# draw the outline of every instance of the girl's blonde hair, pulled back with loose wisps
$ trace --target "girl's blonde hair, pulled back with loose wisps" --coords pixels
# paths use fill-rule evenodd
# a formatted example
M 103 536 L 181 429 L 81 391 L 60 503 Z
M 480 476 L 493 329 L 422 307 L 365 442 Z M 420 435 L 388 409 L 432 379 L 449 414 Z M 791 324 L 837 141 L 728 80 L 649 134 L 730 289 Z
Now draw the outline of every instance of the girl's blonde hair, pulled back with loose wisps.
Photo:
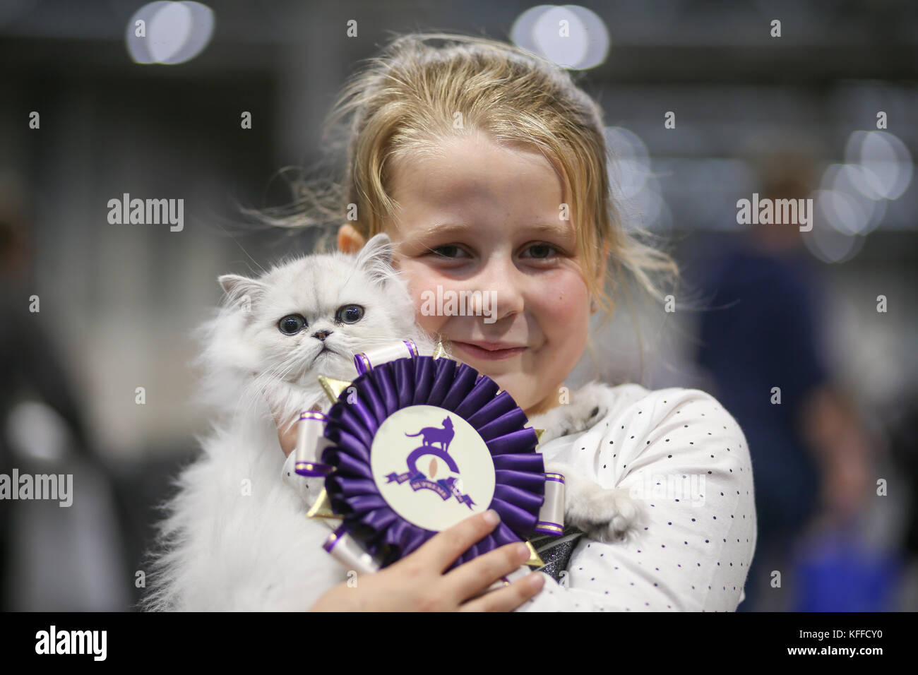
M 427 44 L 434 39 L 446 44 Z M 462 116 L 461 129 L 453 128 L 456 113 Z M 607 162 L 613 158 L 601 109 L 567 71 L 494 39 L 447 33 L 397 36 L 353 74 L 324 125 L 323 139 L 333 147 L 346 146 L 343 181 L 300 183 L 292 207 L 249 212 L 273 225 L 302 228 L 341 225 L 350 208 L 359 214 L 351 224 L 369 239 L 396 215 L 388 189 L 392 163 L 437 152 L 442 139 L 476 130 L 498 143 L 538 148 L 564 176 L 565 194 L 573 201 L 569 212 L 577 227 L 578 257 L 589 292 L 606 314 L 603 323 L 614 309 L 625 271 L 652 297 L 663 298 L 655 277 L 675 280 L 677 265 L 641 241 L 650 236 L 647 232 L 625 230 L 610 190 Z M 611 264 L 598 285 L 596 273 L 588 271 L 599 271 L 606 248 Z

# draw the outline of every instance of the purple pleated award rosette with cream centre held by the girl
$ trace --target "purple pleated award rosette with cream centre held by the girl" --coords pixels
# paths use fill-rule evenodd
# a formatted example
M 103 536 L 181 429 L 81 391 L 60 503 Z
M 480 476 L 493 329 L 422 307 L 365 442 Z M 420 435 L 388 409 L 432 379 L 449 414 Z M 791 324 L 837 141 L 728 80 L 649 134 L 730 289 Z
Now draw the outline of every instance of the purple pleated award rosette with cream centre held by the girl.
M 546 480 L 543 457 L 535 451 L 538 437 L 532 428 L 524 426 L 528 422 L 526 414 L 509 393 L 498 394 L 498 389 L 494 380 L 471 366 L 431 356 L 387 361 L 353 380 L 327 413 L 324 433 L 330 445 L 321 455 L 322 463 L 333 467 L 325 478 L 325 489 L 333 511 L 341 515 L 338 534 L 351 534 L 380 561 L 381 567 L 409 555 L 443 529 L 422 526 L 416 522 L 419 519 L 409 518 L 401 508 L 406 501 L 416 499 L 421 490 L 425 494 L 436 493 L 444 504 L 449 501 L 453 511 L 448 519 L 453 522 L 458 522 L 457 514 L 468 517 L 485 509 L 500 514 L 498 527 L 458 557 L 450 568 L 537 534 Z M 442 418 L 442 428 L 427 426 L 418 433 L 409 433 L 415 427 L 390 421 L 384 427 L 389 435 L 377 437 L 386 420 L 411 406 L 423 406 L 423 411 L 432 412 L 430 419 Z M 436 414 L 438 411 L 431 406 L 442 409 L 443 414 Z M 448 413 L 461 420 L 453 421 Z M 449 452 L 453 435 L 460 450 L 480 446 L 479 456 L 466 453 L 466 458 L 457 463 Z M 385 465 L 380 459 L 384 453 L 379 450 L 374 457 L 374 442 L 379 448 L 384 437 L 402 436 L 410 438 L 404 441 L 404 451 L 394 451 L 401 458 L 401 466 L 386 466 L 380 471 L 380 462 Z M 390 455 L 393 444 L 386 440 L 382 445 L 386 456 Z M 421 456 L 431 456 L 430 476 L 418 466 Z M 435 480 L 434 472 L 442 472 L 438 461 L 450 475 Z M 463 462 L 465 467 L 460 466 Z M 465 493 L 466 479 L 485 484 L 487 489 Z M 386 492 L 387 489 L 392 491 Z M 476 501 L 476 495 L 480 501 L 482 493 L 487 494 L 487 503 Z M 392 501 L 393 494 L 401 506 Z M 441 504 L 430 494 L 423 499 Z

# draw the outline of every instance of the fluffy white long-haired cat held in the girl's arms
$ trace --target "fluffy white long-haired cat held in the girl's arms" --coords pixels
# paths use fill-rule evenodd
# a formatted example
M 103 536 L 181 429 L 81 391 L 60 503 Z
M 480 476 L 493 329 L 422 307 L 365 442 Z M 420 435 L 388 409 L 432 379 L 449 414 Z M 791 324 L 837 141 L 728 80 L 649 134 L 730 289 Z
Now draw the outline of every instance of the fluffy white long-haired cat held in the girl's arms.
M 306 518 L 299 495 L 280 480 L 275 419 L 289 427 L 302 410 L 327 411 L 316 376 L 352 379 L 357 352 L 411 337 L 421 354 L 431 354 L 434 340 L 415 323 L 408 288 L 391 264 L 391 242 L 380 234 L 356 255 L 306 256 L 257 279 L 219 277 L 224 300 L 199 329 L 201 397 L 218 414 L 211 432 L 197 439 L 203 452 L 161 506 L 141 608 L 307 609 L 345 579 L 346 570 L 321 548 L 328 528 Z M 364 307 L 364 318 L 334 321 L 347 304 Z M 296 336 L 277 327 L 291 313 L 308 321 Z M 323 342 L 314 334 L 327 331 L 329 351 L 319 355 Z M 565 416 L 586 419 L 578 403 L 533 418 L 532 426 L 545 424 L 557 435 L 569 428 Z M 584 397 L 580 405 L 588 404 Z M 622 490 L 602 489 L 565 464 L 545 468 L 565 475 L 565 524 L 611 541 L 636 518 Z

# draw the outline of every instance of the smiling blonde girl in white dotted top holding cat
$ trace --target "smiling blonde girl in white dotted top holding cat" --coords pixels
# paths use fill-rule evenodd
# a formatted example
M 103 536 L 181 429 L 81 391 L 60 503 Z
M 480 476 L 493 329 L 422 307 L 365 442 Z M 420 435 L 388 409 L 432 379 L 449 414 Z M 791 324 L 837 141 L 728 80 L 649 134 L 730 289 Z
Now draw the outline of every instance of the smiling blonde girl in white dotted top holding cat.
M 730 414 L 699 390 L 565 387 L 591 315 L 608 318 L 625 274 L 659 297 L 652 276 L 675 271 L 623 229 L 599 107 L 529 52 L 434 34 L 394 40 L 335 112 L 351 116 L 339 249 L 389 234 L 420 325 L 546 430 L 546 462 L 630 489 L 645 518 L 614 543 L 570 531 L 543 539 L 545 573 L 529 575 L 538 584 L 524 577 L 473 599 L 521 564 L 505 546 L 442 575 L 493 526 L 475 516 L 357 588 L 331 588 L 312 608 L 734 611 L 756 512 L 748 450 Z M 285 224 L 315 224 L 314 213 Z M 425 291 L 481 291 L 494 303 L 487 316 L 444 316 L 429 310 Z M 285 481 L 304 494 L 289 471 L 295 435 L 279 437 Z

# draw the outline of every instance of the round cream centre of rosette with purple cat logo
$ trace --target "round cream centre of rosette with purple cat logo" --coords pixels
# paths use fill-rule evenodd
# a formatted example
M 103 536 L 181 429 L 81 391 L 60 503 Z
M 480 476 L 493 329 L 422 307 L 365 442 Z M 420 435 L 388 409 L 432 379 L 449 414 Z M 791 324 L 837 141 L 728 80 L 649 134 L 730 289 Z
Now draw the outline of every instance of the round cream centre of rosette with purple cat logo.
M 475 427 L 433 405 L 407 406 L 380 424 L 370 469 L 393 511 L 435 532 L 485 511 L 497 487 L 494 460 Z

